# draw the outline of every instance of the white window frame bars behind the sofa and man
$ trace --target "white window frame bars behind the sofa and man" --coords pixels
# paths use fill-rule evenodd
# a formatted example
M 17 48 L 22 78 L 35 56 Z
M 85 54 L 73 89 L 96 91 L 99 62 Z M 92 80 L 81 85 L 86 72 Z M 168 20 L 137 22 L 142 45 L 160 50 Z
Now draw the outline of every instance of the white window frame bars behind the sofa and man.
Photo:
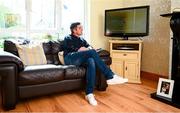
M 30 28 L 30 11 L 31 11 L 31 0 L 25 0 L 25 10 L 26 10 L 26 27 L 23 29 L 1 29 L 0 35 L 6 34 L 6 33 L 13 33 L 13 32 L 24 32 L 26 34 L 26 37 L 30 37 L 31 33 L 59 33 L 59 30 L 61 29 L 61 15 L 62 15 L 62 1 L 61 0 L 55 0 L 55 10 L 56 10 L 56 21 L 55 21 L 55 28 L 54 29 L 42 29 L 42 30 L 35 30 Z M 90 42 L 90 0 L 85 0 L 85 14 L 84 14 L 84 34 L 83 37 Z

